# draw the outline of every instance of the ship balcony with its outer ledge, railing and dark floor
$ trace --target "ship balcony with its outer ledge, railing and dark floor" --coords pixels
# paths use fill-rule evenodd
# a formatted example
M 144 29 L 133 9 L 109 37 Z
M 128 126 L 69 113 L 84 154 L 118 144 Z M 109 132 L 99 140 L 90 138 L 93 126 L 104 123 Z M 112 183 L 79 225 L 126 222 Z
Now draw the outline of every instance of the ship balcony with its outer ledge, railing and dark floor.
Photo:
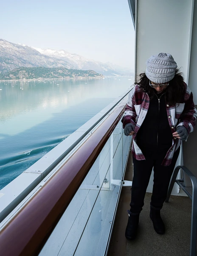
M 158 235 L 149 218 L 152 177 L 138 237 L 124 237 L 132 137 L 124 135 L 121 117 L 130 90 L 0 191 L 3 256 L 189 255 L 192 201 L 174 184 L 162 209 L 166 234 Z M 184 164 L 195 166 L 196 136 L 194 131 L 183 144 L 177 165 L 185 155 Z M 191 188 L 188 179 L 184 175 Z

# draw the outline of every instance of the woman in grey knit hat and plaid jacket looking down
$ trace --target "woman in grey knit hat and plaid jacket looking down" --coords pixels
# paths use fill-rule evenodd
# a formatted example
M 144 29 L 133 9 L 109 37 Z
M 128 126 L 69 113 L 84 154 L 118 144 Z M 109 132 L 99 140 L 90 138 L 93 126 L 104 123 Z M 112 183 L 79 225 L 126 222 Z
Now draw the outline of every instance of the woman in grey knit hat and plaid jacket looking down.
M 170 178 L 180 151 L 195 125 L 197 111 L 191 90 L 178 73 L 169 53 L 159 53 L 146 61 L 146 72 L 129 93 L 122 118 L 124 134 L 132 135 L 134 175 L 127 239 L 135 239 L 139 215 L 152 168 L 154 184 L 150 218 L 158 234 L 165 233 L 160 209 L 166 199 Z

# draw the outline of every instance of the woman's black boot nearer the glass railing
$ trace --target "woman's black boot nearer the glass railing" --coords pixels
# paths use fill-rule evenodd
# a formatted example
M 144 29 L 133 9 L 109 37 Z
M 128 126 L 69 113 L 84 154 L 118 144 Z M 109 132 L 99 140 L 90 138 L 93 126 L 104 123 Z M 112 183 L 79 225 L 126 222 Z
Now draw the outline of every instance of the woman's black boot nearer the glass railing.
M 129 210 L 127 212 L 129 213 L 129 219 L 125 230 L 125 237 L 128 240 L 133 240 L 137 235 L 140 214 L 130 212 Z

